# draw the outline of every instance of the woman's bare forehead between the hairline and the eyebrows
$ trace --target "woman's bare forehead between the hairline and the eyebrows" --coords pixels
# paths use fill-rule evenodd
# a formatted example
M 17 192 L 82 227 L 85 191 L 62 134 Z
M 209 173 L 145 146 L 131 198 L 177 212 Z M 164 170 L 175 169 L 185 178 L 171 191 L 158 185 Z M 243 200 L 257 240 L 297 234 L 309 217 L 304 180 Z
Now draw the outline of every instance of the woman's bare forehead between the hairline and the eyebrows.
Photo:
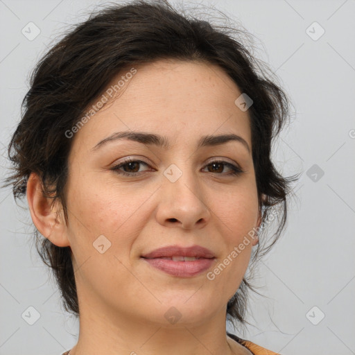
M 107 89 L 115 96 L 110 99 L 106 94 L 109 102 L 76 133 L 80 146 L 92 148 L 122 130 L 158 133 L 169 137 L 171 144 L 195 144 L 201 135 L 235 133 L 251 146 L 248 112 L 235 104 L 242 93 L 220 67 L 159 60 L 134 68 L 112 78 Z

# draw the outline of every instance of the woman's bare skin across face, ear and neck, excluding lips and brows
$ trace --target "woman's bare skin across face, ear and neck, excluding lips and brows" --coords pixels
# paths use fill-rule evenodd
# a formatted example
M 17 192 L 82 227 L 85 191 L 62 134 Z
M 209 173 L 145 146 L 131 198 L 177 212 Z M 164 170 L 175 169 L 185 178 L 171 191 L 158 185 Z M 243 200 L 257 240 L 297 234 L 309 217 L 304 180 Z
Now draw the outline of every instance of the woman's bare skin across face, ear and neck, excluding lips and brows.
M 80 335 L 70 354 L 251 354 L 226 336 L 225 309 L 257 239 L 213 281 L 206 274 L 214 266 L 175 277 L 140 258 L 166 245 L 197 244 L 212 250 L 218 265 L 260 225 L 248 111 L 234 103 L 241 92 L 211 64 L 159 60 L 136 68 L 121 96 L 72 138 L 68 224 L 60 204 L 42 196 L 37 176 L 28 180 L 37 230 L 72 251 Z M 171 147 L 121 139 L 92 150 L 123 130 L 164 135 Z M 202 135 L 230 133 L 250 151 L 238 141 L 196 150 Z M 126 165 L 125 171 L 139 171 L 135 177 L 110 170 L 125 157 L 148 166 Z M 223 164 L 213 170 L 211 158 L 239 164 L 243 173 L 230 175 Z M 175 182 L 163 174 L 171 164 L 182 171 Z M 101 235 L 111 243 L 103 254 L 93 246 Z M 175 324 L 164 317 L 171 307 L 181 314 Z

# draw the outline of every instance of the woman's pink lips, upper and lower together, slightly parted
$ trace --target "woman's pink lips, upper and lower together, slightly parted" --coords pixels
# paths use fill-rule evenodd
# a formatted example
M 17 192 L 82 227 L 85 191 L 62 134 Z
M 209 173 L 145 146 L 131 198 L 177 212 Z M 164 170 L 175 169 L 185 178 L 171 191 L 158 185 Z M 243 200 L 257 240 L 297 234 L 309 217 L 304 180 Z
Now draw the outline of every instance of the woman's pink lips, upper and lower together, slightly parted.
M 173 261 L 162 259 L 166 257 L 196 257 L 193 261 Z M 151 266 L 162 270 L 169 275 L 178 277 L 193 277 L 211 267 L 216 257 L 211 250 L 193 245 L 189 248 L 182 248 L 179 245 L 169 245 L 149 252 L 141 257 Z

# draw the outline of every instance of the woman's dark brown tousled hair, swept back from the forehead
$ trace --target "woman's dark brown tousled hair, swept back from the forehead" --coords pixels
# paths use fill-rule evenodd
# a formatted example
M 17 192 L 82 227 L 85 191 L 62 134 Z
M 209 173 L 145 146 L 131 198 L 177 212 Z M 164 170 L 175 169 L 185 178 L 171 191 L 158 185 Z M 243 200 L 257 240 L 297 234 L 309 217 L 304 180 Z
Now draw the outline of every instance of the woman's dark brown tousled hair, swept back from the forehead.
M 216 64 L 253 101 L 248 114 L 263 225 L 273 208 L 277 210 L 276 232 L 269 239 L 259 234 L 252 255 L 252 262 L 257 261 L 284 228 L 286 196 L 295 177 L 282 177 L 271 161 L 272 141 L 289 117 L 291 101 L 269 78 L 266 64 L 256 60 L 239 40 L 248 35 L 241 29 L 212 26 L 182 15 L 166 1 L 131 1 L 99 10 L 65 33 L 35 67 L 22 102 L 21 121 L 8 147 L 15 172 L 4 186 L 12 185 L 15 199 L 24 197 L 29 175 L 36 173 L 44 196 L 62 204 L 67 221 L 65 186 L 72 139 L 65 132 L 78 123 L 112 78 L 124 67 L 159 59 Z M 58 282 L 64 309 L 79 315 L 70 247 L 53 245 L 37 230 L 35 236 L 37 250 Z M 248 288 L 253 289 L 245 276 L 227 304 L 227 318 L 233 324 L 245 322 Z

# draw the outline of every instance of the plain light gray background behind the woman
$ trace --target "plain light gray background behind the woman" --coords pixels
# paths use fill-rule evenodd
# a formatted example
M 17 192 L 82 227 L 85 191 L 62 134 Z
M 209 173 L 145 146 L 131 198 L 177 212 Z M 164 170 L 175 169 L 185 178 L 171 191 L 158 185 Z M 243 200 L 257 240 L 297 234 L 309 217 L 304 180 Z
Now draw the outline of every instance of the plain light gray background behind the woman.
M 1 176 L 28 73 L 68 24 L 99 3 L 0 0 Z M 257 284 L 267 297 L 251 298 L 254 326 L 243 336 L 284 355 L 355 354 L 355 1 L 202 3 L 213 3 L 259 40 L 255 54 L 277 73 L 295 107 L 277 166 L 286 175 L 303 171 L 288 228 L 259 268 Z M 30 21 L 41 31 L 33 41 L 21 33 Z M 318 40 L 306 33 L 314 21 L 325 31 Z M 314 37 L 320 28 L 309 31 Z M 317 181 L 307 175 L 314 164 L 324 171 Z M 76 343 L 78 322 L 63 312 L 49 273 L 34 247 L 30 252 L 28 211 L 10 190 L 0 191 L 0 202 L 0 355 L 60 354 Z M 28 306 L 40 313 L 32 326 L 21 318 Z

